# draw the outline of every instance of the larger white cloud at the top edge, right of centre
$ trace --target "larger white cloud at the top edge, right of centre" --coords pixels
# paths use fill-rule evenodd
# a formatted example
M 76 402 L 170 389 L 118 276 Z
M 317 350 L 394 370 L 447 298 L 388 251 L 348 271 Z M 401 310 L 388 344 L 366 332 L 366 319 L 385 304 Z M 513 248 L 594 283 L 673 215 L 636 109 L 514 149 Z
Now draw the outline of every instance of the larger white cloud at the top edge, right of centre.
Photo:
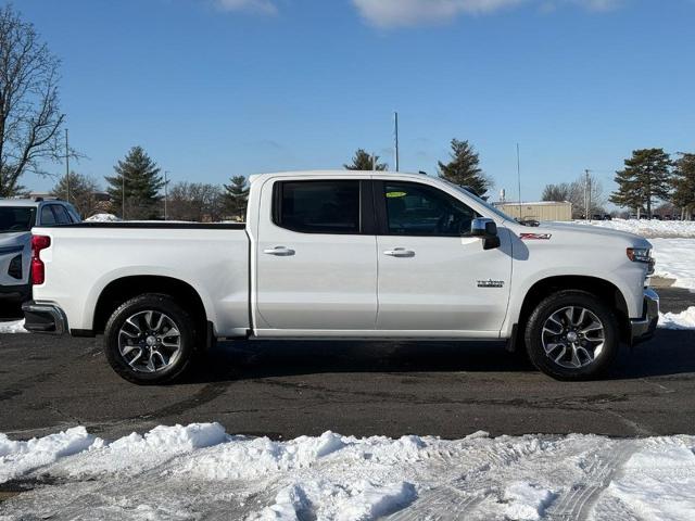
M 352 0 L 362 17 L 378 27 L 405 27 L 450 22 L 459 15 L 489 14 L 521 3 L 553 11 L 574 3 L 589 11 L 609 11 L 623 0 Z

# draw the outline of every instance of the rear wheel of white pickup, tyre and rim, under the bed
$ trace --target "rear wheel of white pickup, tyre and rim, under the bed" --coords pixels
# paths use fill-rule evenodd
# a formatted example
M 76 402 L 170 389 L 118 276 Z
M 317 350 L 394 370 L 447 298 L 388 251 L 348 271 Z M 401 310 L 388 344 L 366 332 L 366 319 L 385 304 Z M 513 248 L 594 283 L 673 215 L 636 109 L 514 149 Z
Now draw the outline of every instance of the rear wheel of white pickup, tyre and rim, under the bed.
M 188 368 L 194 339 L 194 321 L 186 310 L 168 295 L 147 293 L 113 312 L 104 331 L 104 351 L 125 380 L 157 384 Z

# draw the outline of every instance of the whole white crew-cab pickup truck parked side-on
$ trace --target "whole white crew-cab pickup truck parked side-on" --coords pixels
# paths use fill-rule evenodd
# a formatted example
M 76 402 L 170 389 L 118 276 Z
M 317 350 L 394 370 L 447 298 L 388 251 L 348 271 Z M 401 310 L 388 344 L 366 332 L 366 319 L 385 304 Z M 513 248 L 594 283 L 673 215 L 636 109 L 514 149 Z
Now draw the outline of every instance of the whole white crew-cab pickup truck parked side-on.
M 218 338 L 505 341 L 589 379 L 658 321 L 645 239 L 526 227 L 417 174 L 252 176 L 245 224 L 83 223 L 35 228 L 31 244 L 26 329 L 103 333 L 139 384 Z

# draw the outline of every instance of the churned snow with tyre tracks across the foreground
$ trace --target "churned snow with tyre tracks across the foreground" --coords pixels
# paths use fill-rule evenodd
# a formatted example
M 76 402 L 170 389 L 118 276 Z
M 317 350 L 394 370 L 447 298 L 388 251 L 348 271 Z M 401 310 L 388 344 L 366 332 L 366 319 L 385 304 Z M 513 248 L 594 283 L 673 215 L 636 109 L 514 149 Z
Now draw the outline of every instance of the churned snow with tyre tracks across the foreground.
M 84 428 L 29 442 L 0 435 L 0 482 L 38 484 L 0 504 L 0 519 L 690 521 L 694 447 L 695 436 L 482 432 L 276 442 L 217 423 L 113 443 Z

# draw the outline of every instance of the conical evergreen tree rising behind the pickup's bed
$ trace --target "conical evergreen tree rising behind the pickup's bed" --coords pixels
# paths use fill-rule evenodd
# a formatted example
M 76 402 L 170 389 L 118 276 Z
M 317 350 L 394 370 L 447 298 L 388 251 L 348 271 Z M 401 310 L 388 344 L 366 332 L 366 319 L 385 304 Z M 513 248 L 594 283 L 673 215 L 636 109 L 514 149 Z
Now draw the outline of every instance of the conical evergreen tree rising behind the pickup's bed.
M 141 147 L 134 147 L 113 169 L 116 175 L 106 177 L 106 182 L 109 182 L 108 192 L 113 200 L 116 213 L 124 219 L 157 218 L 161 214 L 160 190 L 164 187 L 164 180 L 160 176 L 160 167 L 156 163 Z M 125 208 L 123 208 L 124 199 Z

